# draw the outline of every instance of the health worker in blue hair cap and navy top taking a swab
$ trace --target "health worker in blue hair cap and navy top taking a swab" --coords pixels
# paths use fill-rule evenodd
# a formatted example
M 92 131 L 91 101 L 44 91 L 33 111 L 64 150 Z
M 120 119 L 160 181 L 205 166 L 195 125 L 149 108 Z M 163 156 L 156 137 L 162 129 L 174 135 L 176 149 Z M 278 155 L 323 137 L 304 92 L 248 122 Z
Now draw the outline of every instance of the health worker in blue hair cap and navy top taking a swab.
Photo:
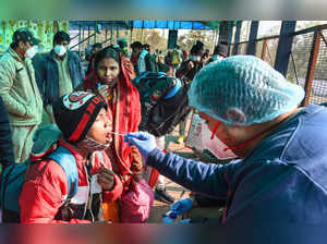
M 156 149 L 154 136 L 129 133 L 146 164 L 194 192 L 226 199 L 222 223 L 327 222 L 327 109 L 300 108 L 304 90 L 269 64 L 234 56 L 205 66 L 190 105 L 203 118 L 206 146 L 228 164 L 206 164 Z M 190 198 L 171 206 L 181 215 Z M 191 220 L 192 221 L 192 220 Z

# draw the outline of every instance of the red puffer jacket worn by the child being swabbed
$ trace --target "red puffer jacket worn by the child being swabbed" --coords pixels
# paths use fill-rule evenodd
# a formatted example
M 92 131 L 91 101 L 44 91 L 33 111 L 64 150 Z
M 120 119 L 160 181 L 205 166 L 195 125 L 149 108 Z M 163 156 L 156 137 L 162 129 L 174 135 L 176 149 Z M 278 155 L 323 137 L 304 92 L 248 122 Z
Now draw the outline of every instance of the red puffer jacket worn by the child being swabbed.
M 75 157 L 78 170 L 78 188 L 72 198 L 72 205 L 85 206 L 88 198 L 89 184 L 83 162 L 83 156 L 78 150 L 63 141 L 59 145 L 69 149 Z M 111 169 L 108 156 L 102 151 L 104 162 L 95 158 L 90 174 L 98 173 L 100 167 Z M 88 162 L 87 162 L 88 163 Z M 105 164 L 105 166 L 104 166 Z M 123 186 L 119 176 L 114 176 L 116 183 L 111 191 L 102 192 L 102 202 L 110 203 L 121 196 Z M 56 220 L 65 196 L 68 195 L 68 179 L 65 172 L 57 162 L 50 159 L 37 162 L 31 167 L 20 197 L 22 223 L 68 223 Z M 83 207 L 84 208 L 84 207 Z M 81 218 L 71 219 L 70 223 L 89 223 L 89 220 Z

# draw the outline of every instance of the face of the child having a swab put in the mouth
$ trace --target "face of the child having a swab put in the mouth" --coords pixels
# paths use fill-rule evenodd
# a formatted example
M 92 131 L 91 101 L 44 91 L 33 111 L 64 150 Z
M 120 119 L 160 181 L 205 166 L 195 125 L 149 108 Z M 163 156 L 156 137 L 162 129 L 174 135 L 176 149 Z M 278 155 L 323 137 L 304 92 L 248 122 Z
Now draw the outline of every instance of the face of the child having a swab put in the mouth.
M 112 115 L 111 112 L 101 108 L 95 122 L 87 132 L 87 136 L 100 144 L 109 144 L 112 142 Z

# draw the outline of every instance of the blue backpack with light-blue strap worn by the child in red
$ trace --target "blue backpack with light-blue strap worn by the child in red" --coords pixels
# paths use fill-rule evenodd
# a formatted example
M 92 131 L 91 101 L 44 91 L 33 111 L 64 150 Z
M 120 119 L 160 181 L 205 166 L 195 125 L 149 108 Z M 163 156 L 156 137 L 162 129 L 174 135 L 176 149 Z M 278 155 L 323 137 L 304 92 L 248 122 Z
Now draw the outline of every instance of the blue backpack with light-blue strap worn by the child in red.
M 69 149 L 62 146 L 51 151 L 53 141 L 57 142 L 60 136 L 60 131 L 56 127 L 53 129 L 53 126 L 55 125 L 46 125 L 36 132 L 35 135 L 38 138 L 34 142 L 33 147 L 35 157 L 31 157 L 23 163 L 14 163 L 3 169 L 0 180 L 0 204 L 3 222 L 20 222 L 19 200 L 28 167 L 46 158 L 52 159 L 60 164 L 68 175 L 69 195 L 65 203 L 76 194 L 78 187 L 78 172 L 75 158 Z M 56 130 L 58 130 L 59 133 Z M 44 138 L 40 135 L 49 136 Z M 40 154 L 36 155 L 36 151 Z

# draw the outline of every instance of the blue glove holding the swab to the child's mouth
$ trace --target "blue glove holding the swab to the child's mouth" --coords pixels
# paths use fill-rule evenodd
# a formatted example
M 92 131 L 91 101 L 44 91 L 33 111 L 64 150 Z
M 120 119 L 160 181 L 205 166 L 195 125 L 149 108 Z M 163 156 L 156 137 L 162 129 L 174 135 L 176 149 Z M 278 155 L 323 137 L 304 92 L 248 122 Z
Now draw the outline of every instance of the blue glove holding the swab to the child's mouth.
M 144 157 L 145 162 L 149 152 L 157 148 L 156 138 L 147 132 L 131 132 L 124 134 L 124 142 L 135 145 L 141 155 Z

